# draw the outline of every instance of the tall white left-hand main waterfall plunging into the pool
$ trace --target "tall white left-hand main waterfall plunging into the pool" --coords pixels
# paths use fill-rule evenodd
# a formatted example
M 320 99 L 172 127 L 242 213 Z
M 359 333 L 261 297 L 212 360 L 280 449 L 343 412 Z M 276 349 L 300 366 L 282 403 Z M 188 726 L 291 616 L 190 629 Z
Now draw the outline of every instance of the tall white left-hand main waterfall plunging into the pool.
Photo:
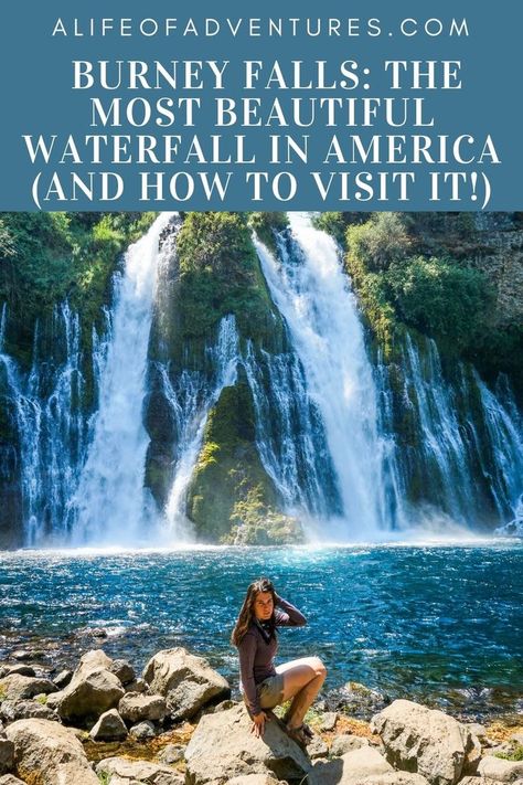
M 72 500 L 75 544 L 130 544 L 147 538 L 149 503 L 143 471 L 149 437 L 142 422 L 147 350 L 160 236 L 173 213 L 162 213 L 126 254 L 99 380 L 99 407 L 77 491 Z

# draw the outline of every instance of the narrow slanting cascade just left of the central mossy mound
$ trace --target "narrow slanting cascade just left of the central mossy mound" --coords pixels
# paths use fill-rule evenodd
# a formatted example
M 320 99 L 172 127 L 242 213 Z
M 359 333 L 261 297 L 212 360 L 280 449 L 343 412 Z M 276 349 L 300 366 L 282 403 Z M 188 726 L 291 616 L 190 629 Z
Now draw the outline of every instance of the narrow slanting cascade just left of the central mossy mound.
M 234 316 L 222 319 L 216 344 L 207 347 L 206 354 L 213 368 L 211 383 L 202 372 L 183 370 L 173 385 L 166 367 L 160 365 L 159 369 L 163 394 L 178 434 L 163 532 L 166 539 L 175 543 L 191 541 L 191 523 L 185 515 L 186 491 L 202 446 L 209 412 L 222 390 L 236 381 L 239 349 Z

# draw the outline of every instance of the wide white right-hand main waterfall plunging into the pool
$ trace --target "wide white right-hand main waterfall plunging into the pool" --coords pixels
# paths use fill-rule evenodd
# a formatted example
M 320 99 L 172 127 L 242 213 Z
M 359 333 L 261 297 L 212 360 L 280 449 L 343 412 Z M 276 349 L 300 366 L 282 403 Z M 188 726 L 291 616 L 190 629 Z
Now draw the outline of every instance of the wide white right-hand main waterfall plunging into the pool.
M 293 243 L 281 263 L 257 243 L 275 304 L 289 327 L 308 391 L 323 420 L 343 520 L 322 535 L 373 537 L 384 527 L 384 444 L 356 303 L 334 241 L 302 213 L 289 213 Z

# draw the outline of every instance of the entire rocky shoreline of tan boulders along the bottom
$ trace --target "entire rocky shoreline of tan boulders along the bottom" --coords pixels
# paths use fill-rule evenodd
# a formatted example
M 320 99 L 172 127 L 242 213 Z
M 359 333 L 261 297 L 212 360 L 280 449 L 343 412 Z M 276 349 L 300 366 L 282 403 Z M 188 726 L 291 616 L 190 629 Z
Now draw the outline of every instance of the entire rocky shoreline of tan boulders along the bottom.
M 226 679 L 181 647 L 141 675 L 100 648 L 52 675 L 21 654 L 0 664 L 0 785 L 523 785 L 523 717 L 467 724 L 350 682 L 317 701 L 302 750 L 277 714 L 256 739 Z

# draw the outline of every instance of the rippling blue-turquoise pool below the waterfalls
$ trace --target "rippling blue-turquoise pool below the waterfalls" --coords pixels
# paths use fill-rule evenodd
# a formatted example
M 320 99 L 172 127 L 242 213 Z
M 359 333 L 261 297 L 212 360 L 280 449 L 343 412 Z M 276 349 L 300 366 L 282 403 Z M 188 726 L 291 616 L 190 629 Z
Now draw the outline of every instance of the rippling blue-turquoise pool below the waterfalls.
M 523 545 L 376 545 L 0 554 L 0 659 L 39 641 L 46 661 L 104 648 L 141 667 L 167 646 L 205 655 L 233 685 L 228 643 L 246 585 L 267 574 L 308 617 L 279 657 L 318 654 L 327 688 L 355 680 L 483 715 L 523 708 Z

